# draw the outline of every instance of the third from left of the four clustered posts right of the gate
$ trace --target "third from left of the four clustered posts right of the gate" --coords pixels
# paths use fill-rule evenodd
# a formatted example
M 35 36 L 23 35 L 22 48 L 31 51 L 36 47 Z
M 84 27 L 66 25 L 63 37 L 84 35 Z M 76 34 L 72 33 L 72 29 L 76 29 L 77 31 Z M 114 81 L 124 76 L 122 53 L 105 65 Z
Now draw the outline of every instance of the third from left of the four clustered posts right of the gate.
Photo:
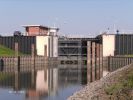
M 96 44 L 96 79 L 100 79 L 100 44 Z

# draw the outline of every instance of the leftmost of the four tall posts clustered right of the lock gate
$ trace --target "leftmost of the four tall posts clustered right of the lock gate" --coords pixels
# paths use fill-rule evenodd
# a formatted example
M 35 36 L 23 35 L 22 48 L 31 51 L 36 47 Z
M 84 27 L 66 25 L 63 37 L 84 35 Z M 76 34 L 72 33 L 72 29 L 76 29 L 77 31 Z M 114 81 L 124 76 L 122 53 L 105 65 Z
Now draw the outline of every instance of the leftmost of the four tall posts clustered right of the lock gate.
M 91 41 L 87 42 L 87 82 L 92 81 L 91 75 Z

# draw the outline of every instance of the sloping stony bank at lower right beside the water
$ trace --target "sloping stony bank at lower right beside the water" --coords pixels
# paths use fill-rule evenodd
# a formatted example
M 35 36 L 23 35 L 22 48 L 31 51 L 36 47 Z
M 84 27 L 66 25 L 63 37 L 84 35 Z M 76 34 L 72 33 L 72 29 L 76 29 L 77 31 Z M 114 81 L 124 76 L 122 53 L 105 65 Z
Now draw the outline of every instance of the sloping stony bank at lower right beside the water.
M 133 75 L 133 64 L 111 72 L 98 81 L 88 83 L 82 90 L 70 96 L 68 100 L 114 100 L 113 98 L 117 98 L 117 100 L 128 100 L 129 96 L 130 100 L 133 100 L 133 88 L 131 88 L 130 91 L 128 90 L 127 95 L 121 95 L 122 93 L 120 93 L 121 96 L 119 96 L 119 94 L 116 95 L 116 89 L 123 91 L 124 88 L 122 86 L 125 86 L 125 83 L 123 83 L 123 85 L 122 82 L 127 82 L 126 79 L 129 73 Z M 132 78 L 133 77 L 131 77 L 131 79 Z M 113 92 L 116 92 L 114 93 L 116 97 Z

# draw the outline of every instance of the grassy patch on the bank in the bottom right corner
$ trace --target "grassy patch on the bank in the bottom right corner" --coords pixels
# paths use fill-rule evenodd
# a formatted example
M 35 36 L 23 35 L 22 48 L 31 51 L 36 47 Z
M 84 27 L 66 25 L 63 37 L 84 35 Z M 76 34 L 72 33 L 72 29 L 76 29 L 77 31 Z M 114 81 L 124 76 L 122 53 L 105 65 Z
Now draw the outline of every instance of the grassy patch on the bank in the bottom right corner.
M 111 98 L 113 97 L 117 100 L 133 100 L 133 68 L 122 73 L 116 82 L 105 87 L 104 90 Z

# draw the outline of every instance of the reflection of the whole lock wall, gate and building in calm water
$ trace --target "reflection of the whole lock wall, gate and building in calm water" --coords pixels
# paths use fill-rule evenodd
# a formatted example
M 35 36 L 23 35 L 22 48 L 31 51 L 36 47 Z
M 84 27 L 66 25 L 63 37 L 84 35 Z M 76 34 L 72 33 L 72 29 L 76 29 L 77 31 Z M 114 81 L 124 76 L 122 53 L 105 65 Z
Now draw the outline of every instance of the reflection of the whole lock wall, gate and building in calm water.
M 56 96 L 59 89 L 71 84 L 82 84 L 84 70 L 77 68 L 45 67 L 29 72 L 0 73 L 0 87 L 24 91 L 26 100 L 48 99 Z M 15 92 L 15 93 L 16 93 Z

